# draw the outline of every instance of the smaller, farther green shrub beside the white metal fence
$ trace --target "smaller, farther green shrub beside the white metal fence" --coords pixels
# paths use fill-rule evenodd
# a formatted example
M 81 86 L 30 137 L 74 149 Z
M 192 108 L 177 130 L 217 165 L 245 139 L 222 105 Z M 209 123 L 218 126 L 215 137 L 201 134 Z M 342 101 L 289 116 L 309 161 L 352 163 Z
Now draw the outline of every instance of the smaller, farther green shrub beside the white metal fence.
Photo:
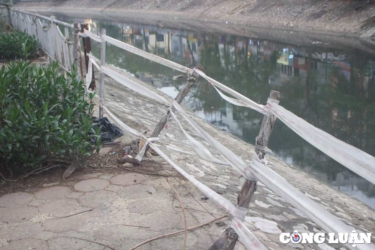
M 35 36 L 29 36 L 26 32 L 13 30 L 4 32 L 0 36 L 0 58 L 14 59 L 21 57 L 24 60 L 34 57 L 38 51 L 38 42 Z

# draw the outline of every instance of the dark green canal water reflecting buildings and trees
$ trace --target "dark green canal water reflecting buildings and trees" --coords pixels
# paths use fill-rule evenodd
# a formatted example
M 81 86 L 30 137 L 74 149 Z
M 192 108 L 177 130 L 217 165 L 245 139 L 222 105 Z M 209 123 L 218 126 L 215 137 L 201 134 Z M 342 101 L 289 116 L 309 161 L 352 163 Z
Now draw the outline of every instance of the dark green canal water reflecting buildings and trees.
M 297 45 L 278 40 L 204 33 L 126 22 L 75 19 L 89 29 L 144 51 L 193 68 L 196 64 L 217 81 L 265 105 L 271 90 L 281 92 L 280 105 L 360 150 L 375 156 L 375 51 L 320 40 Z M 344 46 L 342 46 L 344 44 Z M 100 57 L 100 44 L 92 42 Z M 370 51 L 370 52 L 369 52 Z M 107 43 L 106 63 L 126 70 L 175 97 L 184 80 L 168 67 Z M 222 98 L 198 80 L 184 101 L 196 115 L 254 144 L 263 115 Z M 161 114 L 160 114 L 161 115 Z M 375 185 L 354 174 L 276 121 L 268 147 L 273 155 L 375 208 Z M 249 152 L 249 154 L 252 154 Z

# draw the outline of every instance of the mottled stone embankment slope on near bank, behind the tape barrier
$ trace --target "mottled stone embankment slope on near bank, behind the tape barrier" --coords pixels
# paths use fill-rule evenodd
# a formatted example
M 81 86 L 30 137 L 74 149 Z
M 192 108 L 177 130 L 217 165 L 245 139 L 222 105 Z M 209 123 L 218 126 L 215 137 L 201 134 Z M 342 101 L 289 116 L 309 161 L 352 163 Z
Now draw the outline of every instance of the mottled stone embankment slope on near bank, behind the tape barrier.
M 117 71 L 121 72 L 120 70 Z M 126 75 L 125 73 L 123 74 Z M 156 93 L 171 100 L 171 97 L 166 96 L 151 85 L 147 85 L 132 76 L 127 76 L 133 81 L 151 88 Z M 180 81 L 184 80 L 181 79 Z M 196 84 L 207 83 L 198 79 Z M 124 121 L 124 123 L 137 129 L 139 132 L 142 132 L 142 130 L 153 131 L 155 125 L 166 111 L 165 106 L 152 100 L 148 100 L 144 96 L 134 93 L 133 91 L 127 90 L 109 78 L 106 78 L 105 80 L 104 103 L 122 121 Z M 242 157 L 245 162 L 250 162 L 254 152 L 254 147 L 252 145 L 247 144 L 229 133 L 220 131 L 201 118 L 196 117 L 192 112 L 189 112 L 186 107 L 185 110 L 191 117 L 193 117 L 195 122 L 205 131 L 210 133 L 210 135 L 232 150 L 235 154 Z M 202 144 L 206 145 L 213 156 L 221 159 L 220 155 L 210 148 L 208 144 L 197 135 L 195 130 L 190 127 L 189 124 L 184 122 L 182 117 L 179 115 L 177 116 L 180 122 L 183 123 L 184 128 L 186 128 L 187 133 Z M 278 126 L 278 123 L 280 123 L 280 121 L 276 121 L 275 126 Z M 130 138 L 127 139 L 130 140 Z M 226 192 L 223 196 L 234 204 L 237 203 L 237 194 L 241 189 L 240 183 L 237 179 L 239 174 L 231 167 L 208 163 L 196 157 L 195 154 L 192 153 L 193 150 L 190 147 L 189 142 L 174 122 L 171 123 L 171 126 L 162 141 L 156 142 L 156 144 L 181 168 L 194 175 L 205 185 L 218 190 L 220 193 Z M 326 208 L 347 224 L 353 225 L 355 228 L 363 230 L 364 232 L 374 232 L 374 210 L 357 199 L 320 183 L 304 172 L 295 171 L 295 169 L 279 159 L 274 157 L 269 158 L 269 160 L 273 162 L 271 168 L 274 171 L 305 193 L 305 195 L 309 196 L 312 200 Z M 298 230 L 299 232 L 315 233 L 322 231 L 318 225 L 261 182 L 259 182 L 258 190 L 255 192 L 252 199 L 247 216 L 248 217 L 246 217 L 245 221 L 249 229 L 256 230 L 259 228 L 260 230 L 254 231 L 254 234 L 262 241 L 262 243 L 272 249 L 290 249 L 290 247 L 292 247 L 291 245 L 294 245 L 291 243 L 291 245 L 281 244 L 279 241 L 279 235 L 281 232 L 293 232 L 294 230 Z M 374 238 L 372 238 L 372 241 L 374 241 Z M 330 247 L 336 248 L 341 246 L 338 244 L 325 245 L 315 243 L 303 245 L 304 249 L 321 249 L 322 247 L 324 247 L 324 249 L 332 250 Z

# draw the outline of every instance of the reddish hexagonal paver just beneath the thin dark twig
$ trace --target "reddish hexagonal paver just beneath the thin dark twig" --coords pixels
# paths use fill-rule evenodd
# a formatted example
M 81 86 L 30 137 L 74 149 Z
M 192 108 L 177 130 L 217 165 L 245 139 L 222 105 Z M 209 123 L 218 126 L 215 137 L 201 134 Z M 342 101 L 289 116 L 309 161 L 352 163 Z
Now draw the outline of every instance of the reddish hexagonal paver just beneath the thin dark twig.
M 77 214 L 66 218 L 46 220 L 43 222 L 43 228 L 47 231 L 60 233 L 66 230 L 75 230 L 80 228 L 86 222 L 83 214 Z

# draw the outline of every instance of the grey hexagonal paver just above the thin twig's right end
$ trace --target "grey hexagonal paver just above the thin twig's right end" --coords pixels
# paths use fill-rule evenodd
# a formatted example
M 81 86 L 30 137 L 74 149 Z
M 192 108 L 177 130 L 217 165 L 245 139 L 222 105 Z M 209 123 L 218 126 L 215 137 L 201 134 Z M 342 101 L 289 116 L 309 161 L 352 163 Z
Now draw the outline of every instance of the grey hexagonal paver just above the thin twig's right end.
M 116 193 L 111 191 L 99 190 L 86 193 L 79 201 L 81 206 L 92 208 L 107 208 L 112 202 L 118 199 Z

